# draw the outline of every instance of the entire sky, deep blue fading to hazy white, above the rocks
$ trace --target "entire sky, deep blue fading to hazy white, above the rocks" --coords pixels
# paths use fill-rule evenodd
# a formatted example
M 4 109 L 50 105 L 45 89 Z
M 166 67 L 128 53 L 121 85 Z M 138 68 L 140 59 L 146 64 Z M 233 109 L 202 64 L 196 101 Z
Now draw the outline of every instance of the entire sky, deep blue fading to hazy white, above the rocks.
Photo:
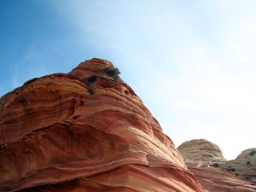
M 112 61 L 176 146 L 256 147 L 253 0 L 0 1 L 0 95 L 27 79 Z

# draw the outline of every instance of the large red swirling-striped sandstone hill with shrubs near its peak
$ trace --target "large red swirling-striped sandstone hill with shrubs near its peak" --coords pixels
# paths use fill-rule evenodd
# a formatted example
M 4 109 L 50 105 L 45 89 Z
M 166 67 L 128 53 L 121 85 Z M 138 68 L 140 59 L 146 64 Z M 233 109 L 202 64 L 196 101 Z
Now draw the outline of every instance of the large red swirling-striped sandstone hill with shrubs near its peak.
M 100 59 L 0 100 L 0 191 L 205 191 L 143 102 Z

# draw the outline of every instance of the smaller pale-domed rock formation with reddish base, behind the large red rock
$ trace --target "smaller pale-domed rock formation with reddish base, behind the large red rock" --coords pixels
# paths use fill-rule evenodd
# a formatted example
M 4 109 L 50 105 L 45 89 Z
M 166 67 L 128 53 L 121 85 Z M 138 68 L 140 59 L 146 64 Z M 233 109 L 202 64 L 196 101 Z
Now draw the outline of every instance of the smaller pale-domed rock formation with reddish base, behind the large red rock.
M 216 144 L 205 139 L 185 142 L 177 149 L 189 171 L 210 192 L 256 191 L 256 148 L 249 148 L 230 161 L 224 159 Z

